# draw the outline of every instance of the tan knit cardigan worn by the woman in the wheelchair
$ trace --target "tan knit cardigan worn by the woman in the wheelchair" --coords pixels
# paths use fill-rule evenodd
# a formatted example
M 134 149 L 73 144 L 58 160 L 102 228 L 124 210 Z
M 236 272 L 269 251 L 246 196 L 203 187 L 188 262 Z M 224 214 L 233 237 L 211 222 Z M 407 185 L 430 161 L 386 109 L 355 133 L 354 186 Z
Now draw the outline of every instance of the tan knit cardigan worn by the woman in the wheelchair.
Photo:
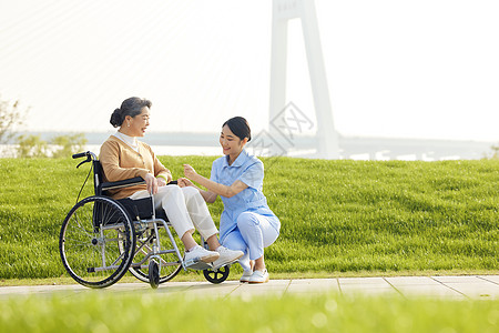
M 172 173 L 157 160 L 151 147 L 138 141 L 139 152 L 114 135 L 101 145 L 99 159 L 104 170 L 104 181 L 115 182 L 134 176 L 145 178 L 151 173 L 170 182 Z M 122 199 L 132 195 L 136 191 L 146 190 L 145 184 L 110 190 L 113 199 Z

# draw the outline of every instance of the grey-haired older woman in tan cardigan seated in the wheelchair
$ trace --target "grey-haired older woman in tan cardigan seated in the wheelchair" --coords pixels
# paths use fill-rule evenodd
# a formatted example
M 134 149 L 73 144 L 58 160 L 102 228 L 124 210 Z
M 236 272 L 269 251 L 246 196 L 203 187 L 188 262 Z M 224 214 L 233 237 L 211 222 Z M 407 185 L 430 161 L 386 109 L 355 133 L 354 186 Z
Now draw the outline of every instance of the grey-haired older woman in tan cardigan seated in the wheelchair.
M 218 231 L 198 191 L 177 185 L 166 186 L 172 181 L 171 172 L 157 160 L 151 147 L 138 140 L 144 137 L 149 127 L 150 109 L 149 100 L 130 98 L 111 115 L 111 124 L 119 130 L 101 147 L 100 161 L 106 181 L 134 176 L 145 180 L 145 184 L 113 190 L 111 196 L 141 199 L 153 194 L 155 209 L 165 211 L 181 238 L 186 249 L 186 261 L 198 259 L 213 262 L 215 269 L 236 261 L 243 252 L 232 251 L 220 244 Z M 195 242 L 192 236 L 194 226 L 206 240 L 211 251 Z

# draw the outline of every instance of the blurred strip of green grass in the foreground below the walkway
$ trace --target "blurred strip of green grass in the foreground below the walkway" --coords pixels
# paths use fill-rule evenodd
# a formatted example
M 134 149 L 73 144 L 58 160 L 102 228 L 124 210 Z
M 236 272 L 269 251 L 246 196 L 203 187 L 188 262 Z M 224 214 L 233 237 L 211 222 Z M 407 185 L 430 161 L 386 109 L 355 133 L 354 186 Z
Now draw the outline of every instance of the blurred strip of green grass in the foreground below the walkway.
M 156 291 L 16 296 L 1 332 L 498 332 L 498 301 L 400 296 L 192 297 Z

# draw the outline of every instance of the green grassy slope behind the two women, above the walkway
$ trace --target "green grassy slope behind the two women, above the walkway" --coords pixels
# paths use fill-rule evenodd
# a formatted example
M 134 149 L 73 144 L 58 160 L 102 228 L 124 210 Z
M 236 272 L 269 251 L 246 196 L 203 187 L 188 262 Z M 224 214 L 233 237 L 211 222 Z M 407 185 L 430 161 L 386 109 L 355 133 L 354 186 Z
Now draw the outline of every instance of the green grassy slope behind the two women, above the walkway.
M 161 160 L 175 176 L 185 162 L 208 175 L 213 158 Z M 499 161 L 263 161 L 283 225 L 266 251 L 277 275 L 499 270 Z M 0 159 L 0 278 L 67 275 L 59 229 L 88 171 L 74 167 Z M 221 201 L 210 209 L 217 221 Z

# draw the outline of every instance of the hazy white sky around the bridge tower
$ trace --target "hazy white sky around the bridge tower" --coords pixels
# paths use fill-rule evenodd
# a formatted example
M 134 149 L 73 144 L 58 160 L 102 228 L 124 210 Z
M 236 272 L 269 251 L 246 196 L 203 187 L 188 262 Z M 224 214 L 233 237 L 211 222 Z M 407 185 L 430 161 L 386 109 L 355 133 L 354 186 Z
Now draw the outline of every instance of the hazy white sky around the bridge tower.
M 499 1 L 316 0 L 344 135 L 499 141 Z M 152 131 L 267 123 L 271 0 L 0 0 L 0 95 L 27 128 L 105 131 L 131 95 Z M 301 21 L 288 101 L 314 119 Z

